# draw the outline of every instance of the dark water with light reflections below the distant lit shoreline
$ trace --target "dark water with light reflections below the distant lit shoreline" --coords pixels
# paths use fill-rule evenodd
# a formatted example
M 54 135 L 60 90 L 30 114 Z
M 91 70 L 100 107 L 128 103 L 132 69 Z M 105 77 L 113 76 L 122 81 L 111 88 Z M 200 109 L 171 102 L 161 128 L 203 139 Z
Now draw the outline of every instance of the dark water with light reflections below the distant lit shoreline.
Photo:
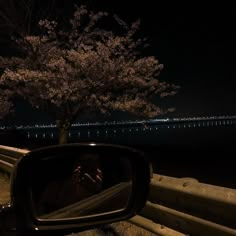
M 54 133 L 53 133 L 54 132 Z M 52 135 L 53 133 L 53 135 Z M 138 148 L 146 153 L 154 172 L 193 177 L 201 182 L 236 188 L 236 125 L 209 127 L 126 127 L 72 129 L 70 142 L 103 142 Z M 48 133 L 1 133 L 4 145 L 38 148 L 57 143 Z

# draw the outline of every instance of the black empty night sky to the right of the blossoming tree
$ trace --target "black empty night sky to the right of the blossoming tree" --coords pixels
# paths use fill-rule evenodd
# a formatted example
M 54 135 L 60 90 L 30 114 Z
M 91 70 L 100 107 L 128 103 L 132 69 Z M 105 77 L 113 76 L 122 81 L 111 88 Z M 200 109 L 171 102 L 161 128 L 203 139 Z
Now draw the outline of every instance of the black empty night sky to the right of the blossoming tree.
M 233 4 L 88 2 L 90 7 L 114 12 L 126 22 L 141 19 L 141 33 L 150 42 L 147 53 L 164 64 L 160 79 L 181 86 L 176 96 L 161 101 L 176 107 L 168 117 L 236 114 L 236 8 Z M 25 112 L 30 109 L 24 107 L 17 112 L 22 120 L 28 120 L 22 109 Z

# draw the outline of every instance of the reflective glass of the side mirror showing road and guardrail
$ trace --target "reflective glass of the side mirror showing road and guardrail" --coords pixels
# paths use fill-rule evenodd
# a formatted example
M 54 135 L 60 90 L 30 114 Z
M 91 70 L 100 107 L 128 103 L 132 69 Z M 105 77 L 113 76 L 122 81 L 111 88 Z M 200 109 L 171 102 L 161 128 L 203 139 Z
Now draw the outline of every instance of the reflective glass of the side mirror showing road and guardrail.
M 39 219 L 69 219 L 120 211 L 132 193 L 132 165 L 116 154 L 58 154 L 37 162 L 30 180 Z

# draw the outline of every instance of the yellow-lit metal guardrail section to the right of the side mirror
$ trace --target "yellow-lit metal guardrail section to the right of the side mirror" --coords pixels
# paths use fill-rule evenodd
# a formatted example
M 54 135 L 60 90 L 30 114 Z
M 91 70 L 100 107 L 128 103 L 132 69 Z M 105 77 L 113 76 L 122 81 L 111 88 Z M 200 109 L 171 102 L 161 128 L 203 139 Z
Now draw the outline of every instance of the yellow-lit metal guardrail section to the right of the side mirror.
M 161 236 L 235 236 L 236 189 L 154 174 L 147 204 L 130 222 Z

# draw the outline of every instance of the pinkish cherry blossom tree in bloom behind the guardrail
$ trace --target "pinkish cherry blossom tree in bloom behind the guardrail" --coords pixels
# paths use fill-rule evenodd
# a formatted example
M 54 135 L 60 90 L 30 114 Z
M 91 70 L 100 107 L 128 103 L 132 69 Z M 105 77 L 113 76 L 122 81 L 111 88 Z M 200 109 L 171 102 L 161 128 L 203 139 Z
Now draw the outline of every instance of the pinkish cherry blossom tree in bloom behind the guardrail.
M 80 6 L 67 27 L 40 20 L 40 34 L 16 38 L 21 55 L 0 57 L 0 89 L 14 89 L 1 104 L 10 109 L 12 99 L 22 97 L 50 113 L 59 143 L 67 142 L 68 129 L 84 112 L 119 110 L 155 117 L 171 111 L 153 98 L 175 95 L 178 88 L 159 80 L 163 65 L 154 56 L 141 55 L 139 21 L 129 26 L 115 16 L 122 30 L 114 33 L 102 23 L 106 18 L 111 19 L 106 12 Z

